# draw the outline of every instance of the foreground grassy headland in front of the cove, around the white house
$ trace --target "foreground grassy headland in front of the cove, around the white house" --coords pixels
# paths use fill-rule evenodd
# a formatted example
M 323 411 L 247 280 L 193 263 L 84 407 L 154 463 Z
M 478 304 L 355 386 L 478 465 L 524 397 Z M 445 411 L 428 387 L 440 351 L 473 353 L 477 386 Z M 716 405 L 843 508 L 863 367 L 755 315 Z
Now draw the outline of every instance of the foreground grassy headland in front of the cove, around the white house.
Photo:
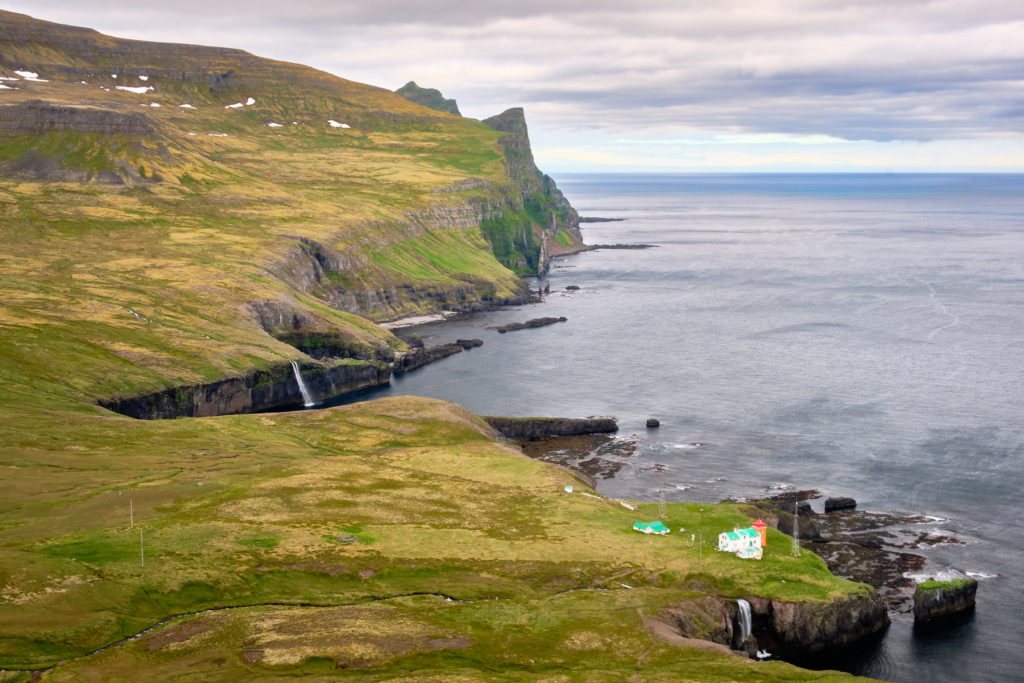
M 645 620 L 692 597 L 687 586 L 796 600 L 856 590 L 816 557 L 791 557 L 774 530 L 760 563 L 701 559 L 685 535 L 636 533 L 637 513 L 564 494 L 580 488 L 567 472 L 496 443 L 478 418 L 441 401 L 157 422 L 67 416 L 48 434 L 11 435 L 0 668 L 68 660 L 55 674 L 75 680 L 262 678 L 336 664 L 375 676 L 817 680 L 681 652 Z M 703 507 L 709 531 L 748 519 Z M 696 528 L 697 508 L 670 505 L 668 521 Z M 410 594 L 431 595 L 400 597 Z M 78 658 L 170 615 L 230 606 L 245 608 L 174 620 Z

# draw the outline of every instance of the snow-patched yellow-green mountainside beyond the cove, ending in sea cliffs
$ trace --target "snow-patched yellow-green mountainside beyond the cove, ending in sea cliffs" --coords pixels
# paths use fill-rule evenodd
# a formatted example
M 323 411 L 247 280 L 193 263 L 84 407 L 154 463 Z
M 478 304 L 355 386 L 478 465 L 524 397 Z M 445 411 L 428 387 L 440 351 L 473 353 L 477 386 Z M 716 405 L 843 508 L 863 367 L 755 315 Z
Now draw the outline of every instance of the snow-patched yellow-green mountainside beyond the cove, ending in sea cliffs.
M 504 134 L 389 90 L 3 11 L 0 76 L 0 319 L 47 332 L 3 351 L 90 402 L 390 361 L 369 321 L 524 302 L 546 262 Z

